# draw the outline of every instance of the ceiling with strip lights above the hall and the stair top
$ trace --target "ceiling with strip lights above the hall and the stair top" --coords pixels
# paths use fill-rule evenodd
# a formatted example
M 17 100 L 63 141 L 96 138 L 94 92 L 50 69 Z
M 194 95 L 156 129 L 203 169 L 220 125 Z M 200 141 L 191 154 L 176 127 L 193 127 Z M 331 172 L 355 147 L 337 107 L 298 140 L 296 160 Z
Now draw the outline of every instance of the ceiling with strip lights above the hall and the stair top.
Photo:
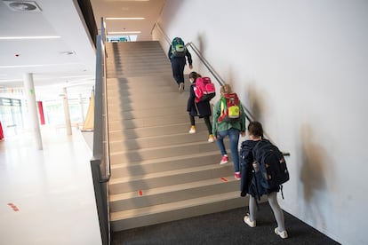
M 140 41 L 151 40 L 164 1 L 91 0 L 91 4 L 99 31 L 101 17 L 144 18 L 106 20 L 108 33 L 140 31 L 134 34 Z M 18 9 L 9 5 L 18 5 Z M 28 6 L 31 8 L 25 11 Z M 55 99 L 64 87 L 68 88 L 68 97 L 90 93 L 95 50 L 81 16 L 76 0 L 0 0 L 0 97 L 4 91 L 21 90 L 27 73 L 33 74 L 39 100 Z M 39 37 L 29 39 L 31 36 Z

